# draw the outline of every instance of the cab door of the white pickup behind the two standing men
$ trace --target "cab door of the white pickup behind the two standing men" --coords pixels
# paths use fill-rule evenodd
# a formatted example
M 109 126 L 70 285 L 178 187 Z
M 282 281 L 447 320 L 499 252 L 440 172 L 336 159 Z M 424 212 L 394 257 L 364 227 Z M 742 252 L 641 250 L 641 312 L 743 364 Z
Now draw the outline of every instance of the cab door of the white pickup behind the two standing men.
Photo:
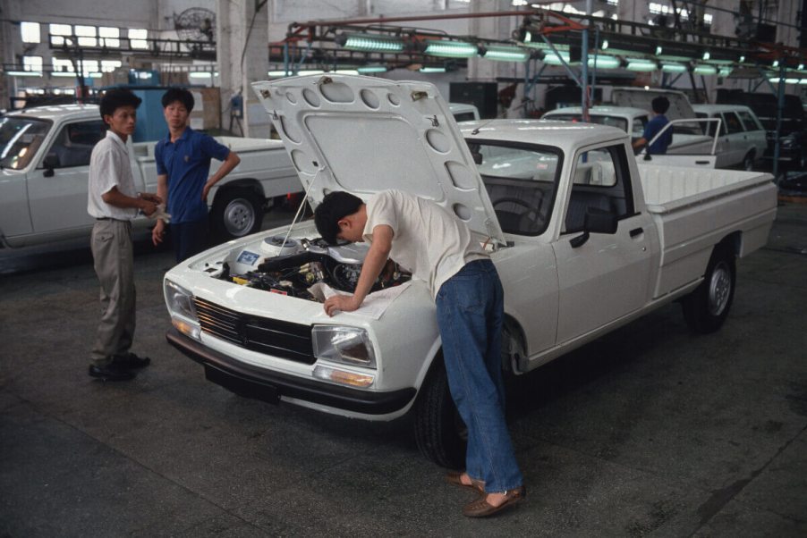
M 89 157 L 106 136 L 100 119 L 67 123 L 28 180 L 34 233 L 81 231 L 94 222 L 87 213 Z M 49 157 L 49 158 L 48 158 Z M 46 168 L 45 160 L 55 166 Z

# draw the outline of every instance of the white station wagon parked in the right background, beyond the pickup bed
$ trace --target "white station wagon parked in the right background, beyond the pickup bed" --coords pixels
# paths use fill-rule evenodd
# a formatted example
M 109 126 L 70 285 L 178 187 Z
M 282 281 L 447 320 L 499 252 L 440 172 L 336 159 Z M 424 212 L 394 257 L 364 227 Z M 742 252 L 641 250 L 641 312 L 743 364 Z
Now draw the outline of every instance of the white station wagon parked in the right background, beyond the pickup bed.
M 718 168 L 740 166 L 752 170 L 768 148 L 765 128 L 753 111 L 743 105 L 692 105 L 699 118 L 718 118 Z M 709 124 L 714 136 L 718 122 Z

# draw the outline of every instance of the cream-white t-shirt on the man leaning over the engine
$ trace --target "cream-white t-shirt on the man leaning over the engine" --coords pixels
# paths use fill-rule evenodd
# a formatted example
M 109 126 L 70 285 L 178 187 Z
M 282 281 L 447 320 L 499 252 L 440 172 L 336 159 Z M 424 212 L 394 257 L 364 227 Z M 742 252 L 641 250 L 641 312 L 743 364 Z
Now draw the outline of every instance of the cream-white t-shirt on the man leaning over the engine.
M 465 264 L 489 257 L 454 214 L 400 190 L 385 190 L 368 200 L 365 241 L 372 242 L 372 232 L 380 224 L 394 232 L 389 257 L 426 282 L 433 298 Z

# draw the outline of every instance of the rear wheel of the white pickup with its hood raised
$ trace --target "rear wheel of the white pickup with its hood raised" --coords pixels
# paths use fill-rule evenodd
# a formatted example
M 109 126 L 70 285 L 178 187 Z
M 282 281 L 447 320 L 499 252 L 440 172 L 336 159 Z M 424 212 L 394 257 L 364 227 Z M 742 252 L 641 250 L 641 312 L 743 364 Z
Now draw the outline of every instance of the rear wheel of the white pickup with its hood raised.
M 702 334 L 717 331 L 731 309 L 735 286 L 735 254 L 728 246 L 718 245 L 709 258 L 703 282 L 681 303 L 690 329 Z

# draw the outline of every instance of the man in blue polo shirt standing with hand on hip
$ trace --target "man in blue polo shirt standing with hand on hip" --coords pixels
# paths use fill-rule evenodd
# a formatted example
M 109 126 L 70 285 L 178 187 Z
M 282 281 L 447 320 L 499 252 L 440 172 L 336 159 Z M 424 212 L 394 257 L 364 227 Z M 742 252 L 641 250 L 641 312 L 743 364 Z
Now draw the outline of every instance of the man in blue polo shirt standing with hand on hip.
M 216 139 L 192 130 L 188 118 L 193 96 L 183 88 L 171 88 L 162 98 L 168 136 L 157 142 L 157 196 L 166 201 L 171 215 L 171 242 L 177 263 L 208 246 L 208 192 L 225 177 L 241 158 Z M 208 178 L 210 159 L 224 163 Z M 157 220 L 151 232 L 155 245 L 163 241 L 166 223 Z

